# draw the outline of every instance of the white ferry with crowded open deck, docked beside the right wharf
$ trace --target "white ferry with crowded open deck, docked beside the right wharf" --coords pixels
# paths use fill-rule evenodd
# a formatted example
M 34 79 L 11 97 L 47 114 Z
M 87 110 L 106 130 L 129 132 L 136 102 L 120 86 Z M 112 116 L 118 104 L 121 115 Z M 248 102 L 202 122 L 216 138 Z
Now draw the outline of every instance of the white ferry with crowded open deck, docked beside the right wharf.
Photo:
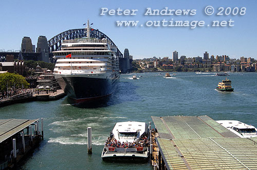
M 107 138 L 102 159 L 105 161 L 148 161 L 149 128 L 145 122 L 117 122 Z

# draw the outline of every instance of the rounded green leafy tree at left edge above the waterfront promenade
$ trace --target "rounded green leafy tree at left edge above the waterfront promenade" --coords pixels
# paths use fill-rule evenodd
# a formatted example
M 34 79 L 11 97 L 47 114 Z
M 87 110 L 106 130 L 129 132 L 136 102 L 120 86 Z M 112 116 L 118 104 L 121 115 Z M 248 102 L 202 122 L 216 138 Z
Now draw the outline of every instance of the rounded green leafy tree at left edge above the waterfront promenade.
M 0 74 L 0 93 L 5 94 L 8 90 L 12 90 L 14 94 L 23 89 L 28 88 L 29 83 L 26 81 L 25 77 L 14 73 L 4 73 Z

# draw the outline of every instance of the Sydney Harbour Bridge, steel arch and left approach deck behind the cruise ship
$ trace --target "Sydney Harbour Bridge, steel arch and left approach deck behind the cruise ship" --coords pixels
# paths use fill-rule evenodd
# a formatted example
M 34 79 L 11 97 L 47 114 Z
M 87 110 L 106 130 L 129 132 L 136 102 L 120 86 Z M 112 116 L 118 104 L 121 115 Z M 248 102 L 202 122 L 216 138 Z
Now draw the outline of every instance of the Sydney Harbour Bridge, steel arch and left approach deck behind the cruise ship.
M 48 46 L 48 52 L 49 52 L 49 61 L 54 62 L 53 51 L 61 50 L 62 41 L 65 39 L 75 39 L 75 38 L 83 38 L 86 37 L 86 31 L 85 28 L 81 29 L 72 29 L 64 31 L 51 39 L 47 41 Z M 102 33 L 99 30 L 91 29 L 90 30 L 90 37 L 93 38 L 106 38 L 109 42 L 111 42 L 111 45 L 116 46 L 111 38 L 109 38 L 107 35 Z M 23 56 L 24 59 L 31 59 L 31 60 L 40 60 L 41 53 L 39 52 L 20 52 L 18 50 L 12 51 L 3 51 L 0 50 L 0 61 L 6 61 L 6 55 L 13 55 L 14 59 L 20 59 L 19 56 Z M 120 50 L 117 48 L 117 56 L 120 58 L 123 58 L 123 54 L 120 52 Z

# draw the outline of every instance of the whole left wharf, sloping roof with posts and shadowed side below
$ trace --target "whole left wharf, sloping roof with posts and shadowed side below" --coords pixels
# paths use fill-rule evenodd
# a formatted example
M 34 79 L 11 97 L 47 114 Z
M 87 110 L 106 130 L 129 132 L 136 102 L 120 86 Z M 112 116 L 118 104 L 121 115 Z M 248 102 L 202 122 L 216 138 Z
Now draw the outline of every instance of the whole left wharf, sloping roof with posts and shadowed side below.
M 0 119 L 0 169 L 15 168 L 16 164 L 43 139 L 39 119 Z

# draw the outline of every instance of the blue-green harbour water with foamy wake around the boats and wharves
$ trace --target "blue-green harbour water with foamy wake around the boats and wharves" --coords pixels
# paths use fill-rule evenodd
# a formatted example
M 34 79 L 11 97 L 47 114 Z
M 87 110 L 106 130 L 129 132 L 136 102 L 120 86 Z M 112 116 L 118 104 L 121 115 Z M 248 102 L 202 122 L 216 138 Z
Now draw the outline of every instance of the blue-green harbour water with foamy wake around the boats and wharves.
M 172 75 L 172 73 L 170 73 Z M 137 75 L 139 79 L 133 80 Z M 139 76 L 142 77 L 139 77 Z M 101 104 L 74 107 L 67 97 L 0 108 L 0 119 L 44 118 L 44 141 L 21 169 L 152 169 L 150 163 L 103 162 L 103 143 L 118 121 L 152 121 L 151 116 L 208 115 L 257 126 L 257 73 L 231 73 L 234 92 L 216 91 L 225 76 L 213 73 L 123 74 L 114 94 Z M 87 127 L 93 154 L 87 154 Z

